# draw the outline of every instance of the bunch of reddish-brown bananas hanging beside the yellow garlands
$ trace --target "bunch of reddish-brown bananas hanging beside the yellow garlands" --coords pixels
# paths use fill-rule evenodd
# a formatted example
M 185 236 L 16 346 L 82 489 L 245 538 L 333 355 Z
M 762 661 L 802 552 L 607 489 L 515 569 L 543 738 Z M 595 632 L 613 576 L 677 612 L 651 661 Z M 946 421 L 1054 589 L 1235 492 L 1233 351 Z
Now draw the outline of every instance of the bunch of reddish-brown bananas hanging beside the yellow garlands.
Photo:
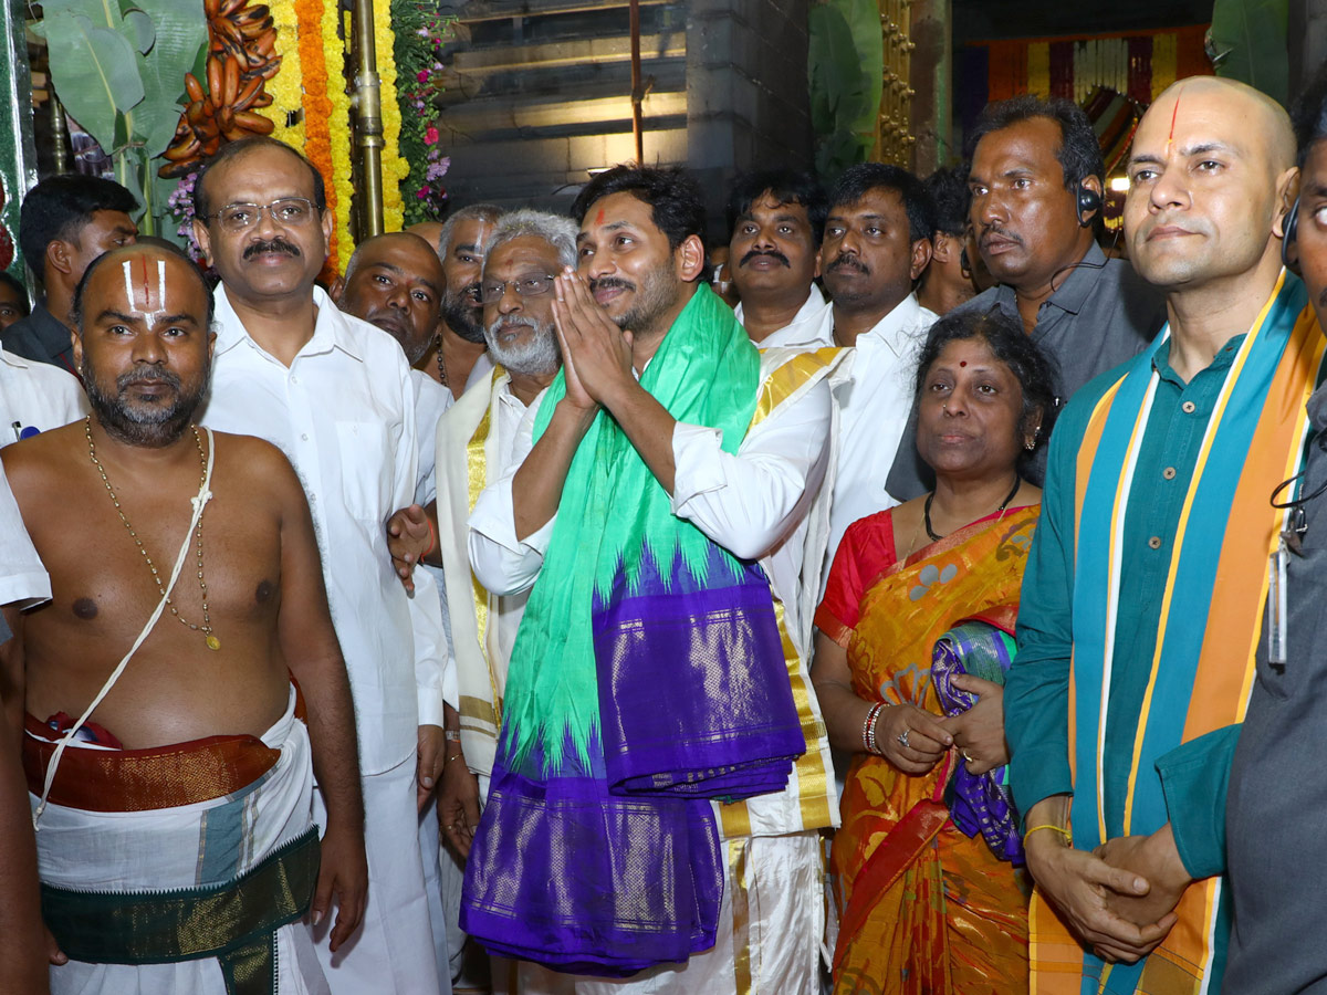
M 248 0 L 204 0 L 207 13 L 207 89 L 184 73 L 188 106 L 179 115 L 175 137 L 162 154 L 161 176 L 192 172 L 222 142 L 272 133 L 272 122 L 255 107 L 272 102 L 265 84 L 281 68 L 271 11 Z

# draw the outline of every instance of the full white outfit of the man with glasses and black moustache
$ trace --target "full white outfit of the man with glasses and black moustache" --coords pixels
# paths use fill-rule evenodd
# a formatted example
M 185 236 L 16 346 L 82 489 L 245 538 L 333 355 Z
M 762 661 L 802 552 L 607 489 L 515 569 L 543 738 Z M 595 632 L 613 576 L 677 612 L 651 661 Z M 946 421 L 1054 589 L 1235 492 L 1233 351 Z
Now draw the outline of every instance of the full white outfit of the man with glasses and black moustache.
M 348 949 L 318 945 L 337 995 L 449 991 L 438 980 L 414 813 L 417 727 L 442 726 L 445 649 L 433 580 L 409 598 L 386 520 L 419 486 L 415 387 L 401 345 L 313 288 L 317 322 L 289 366 L 216 291 L 212 390 L 200 422 L 280 448 L 304 484 L 354 698 L 369 903 Z M 324 923 L 324 927 L 326 923 Z M 405 980 L 413 979 L 413 980 Z

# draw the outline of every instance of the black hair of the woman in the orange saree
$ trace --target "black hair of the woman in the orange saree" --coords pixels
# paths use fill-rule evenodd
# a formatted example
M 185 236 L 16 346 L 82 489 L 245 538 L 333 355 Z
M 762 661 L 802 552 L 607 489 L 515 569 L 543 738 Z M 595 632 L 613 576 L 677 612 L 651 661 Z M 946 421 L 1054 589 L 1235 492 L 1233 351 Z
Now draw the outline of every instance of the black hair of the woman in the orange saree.
M 979 310 L 959 308 L 951 310 L 930 326 L 926 341 L 917 357 L 917 378 L 913 383 L 913 397 L 921 401 L 926 389 L 926 374 L 950 342 L 981 338 L 991 353 L 1009 367 L 1023 390 L 1023 411 L 1018 419 L 1019 432 L 1032 427 L 1032 417 L 1038 409 L 1042 422 L 1031 450 L 1019 451 L 1019 459 L 1027 460 L 1046 439 L 1051 438 L 1055 425 L 1055 397 L 1059 382 L 1059 367 L 1055 357 L 1032 341 L 1023 332 L 1023 322 L 1010 317 L 999 308 Z

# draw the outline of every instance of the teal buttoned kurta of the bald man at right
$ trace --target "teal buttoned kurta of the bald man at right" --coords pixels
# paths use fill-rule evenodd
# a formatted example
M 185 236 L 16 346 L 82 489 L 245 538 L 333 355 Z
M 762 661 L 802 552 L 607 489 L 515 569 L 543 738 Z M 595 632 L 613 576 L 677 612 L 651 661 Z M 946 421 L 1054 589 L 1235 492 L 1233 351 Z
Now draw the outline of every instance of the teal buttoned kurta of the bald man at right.
M 1184 495 L 1221 385 L 1243 338 L 1230 340 L 1212 365 L 1188 383 L 1172 369 L 1166 349 L 1153 361 L 1160 381 L 1135 475 L 1136 482 L 1151 486 L 1135 487 L 1124 519 L 1120 589 L 1127 596 L 1120 598 L 1111 675 L 1109 708 L 1115 719 L 1105 736 L 1105 824 L 1111 836 L 1121 834 L 1124 828 L 1129 758 Z M 1067 700 L 1076 459 L 1093 407 L 1124 369 L 1111 370 L 1083 387 L 1051 439 L 1042 523 L 1023 574 L 1018 662 L 1005 689 L 1005 728 L 1013 751 L 1010 783 L 1020 812 L 1044 797 L 1074 791 Z M 1230 727 L 1185 743 L 1157 764 L 1176 844 L 1193 877 L 1209 877 L 1225 866 L 1225 772 L 1237 732 Z

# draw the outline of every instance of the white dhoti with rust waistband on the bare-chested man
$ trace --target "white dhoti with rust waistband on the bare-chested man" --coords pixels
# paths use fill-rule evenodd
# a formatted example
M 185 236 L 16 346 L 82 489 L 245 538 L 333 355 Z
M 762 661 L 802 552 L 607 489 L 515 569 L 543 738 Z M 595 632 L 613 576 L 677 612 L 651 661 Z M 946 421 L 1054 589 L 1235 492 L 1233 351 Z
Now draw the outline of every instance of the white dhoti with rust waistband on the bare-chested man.
M 29 730 L 33 727 L 29 723 Z M 25 736 L 25 759 L 41 748 L 37 728 L 36 738 L 31 732 Z M 58 736 L 52 732 L 48 739 L 54 742 Z M 284 903 L 291 913 L 283 918 L 292 921 L 272 931 L 275 957 L 268 958 L 271 966 L 264 968 L 275 970 L 275 980 L 245 990 L 328 995 L 309 930 L 296 913 L 312 893 L 317 862 L 312 842 L 313 765 L 308 731 L 295 718 L 295 690 L 285 715 L 263 734 L 261 743 L 252 738 L 226 739 L 244 751 L 240 760 L 212 740 L 147 751 L 105 750 L 77 742 L 69 746 L 37 832 L 38 870 L 42 885 L 49 886 L 44 894 L 48 922 L 53 925 L 52 909 L 73 910 L 64 919 L 74 923 L 66 943 L 66 953 L 72 953 L 85 939 L 93 947 L 104 945 L 117 922 L 114 915 L 127 922 L 147 909 L 157 922 L 169 923 L 171 917 L 178 922 L 178 929 L 163 925 L 158 934 L 190 934 L 190 939 L 199 934 L 202 946 L 215 947 L 227 938 L 219 922 L 247 922 L 253 915 L 271 918 L 272 906 Z M 280 751 L 275 763 L 271 751 Z M 249 769 L 245 764 L 255 755 L 268 758 L 260 765 L 271 765 L 248 783 L 227 785 L 227 777 L 234 780 Z M 93 768 L 96 777 L 86 773 Z M 145 777 L 147 771 L 151 773 Z M 32 773 L 29 765 L 29 785 Z M 206 795 L 210 785 L 222 785 L 223 793 L 188 804 L 145 808 L 153 797 Z M 76 799 L 80 804 L 73 804 Z M 36 808 L 37 797 L 31 796 L 31 801 Z M 289 868 L 279 868 L 279 861 L 292 853 L 304 856 L 307 890 L 299 894 L 304 889 L 295 886 L 296 894 L 287 893 L 281 902 L 269 902 L 279 889 L 268 889 L 264 882 L 289 878 Z M 175 899 L 174 893 L 179 901 L 171 909 L 166 899 Z M 226 905 L 227 896 L 242 893 L 251 913 L 248 918 L 238 914 L 235 902 Z M 126 907 L 115 907 L 121 897 Z M 96 911 L 80 909 L 85 901 Z M 138 901 L 142 902 L 134 906 L 138 913 L 130 913 L 127 905 Z M 113 907 L 114 915 L 106 914 L 105 907 Z M 105 930 L 97 925 L 102 915 Z M 92 925 L 82 929 L 80 922 Z M 60 929 L 53 926 L 53 931 L 60 939 Z M 146 949 L 151 946 L 145 939 L 149 933 L 139 925 L 121 930 L 129 950 L 113 951 L 110 957 L 138 961 L 157 957 Z M 268 935 L 263 933 L 264 938 Z M 139 942 L 143 950 L 134 949 Z M 271 949 L 271 939 L 264 942 Z M 54 995 L 226 995 L 227 987 L 222 962 L 206 957 L 138 964 L 70 959 L 50 968 L 50 990 Z

